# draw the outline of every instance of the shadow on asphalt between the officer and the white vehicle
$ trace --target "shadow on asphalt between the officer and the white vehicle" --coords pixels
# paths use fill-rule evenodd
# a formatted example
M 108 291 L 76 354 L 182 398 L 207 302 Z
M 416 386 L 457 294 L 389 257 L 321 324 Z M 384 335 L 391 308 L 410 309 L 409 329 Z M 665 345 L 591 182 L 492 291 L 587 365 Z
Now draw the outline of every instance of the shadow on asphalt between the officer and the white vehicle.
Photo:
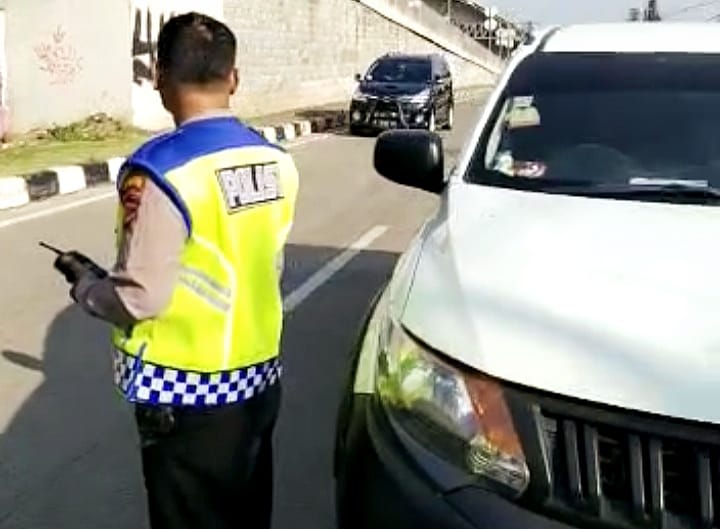
M 290 253 L 298 251 L 293 249 Z M 300 249 L 306 261 L 317 249 Z M 298 309 L 284 335 L 284 400 L 277 429 L 275 529 L 331 529 L 335 418 L 358 326 L 398 255 L 358 255 Z

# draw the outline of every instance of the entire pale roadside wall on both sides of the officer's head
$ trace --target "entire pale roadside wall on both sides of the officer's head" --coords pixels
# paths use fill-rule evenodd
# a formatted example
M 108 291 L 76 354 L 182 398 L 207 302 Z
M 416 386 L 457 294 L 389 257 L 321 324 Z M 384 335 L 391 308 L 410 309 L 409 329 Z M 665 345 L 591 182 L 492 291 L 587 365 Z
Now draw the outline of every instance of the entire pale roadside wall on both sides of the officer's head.
M 3 0 L 0 0 L 0 2 Z M 239 41 L 244 117 L 346 101 L 388 51 L 441 52 L 457 86 L 492 84 L 498 59 L 420 0 L 5 0 L 12 132 L 96 112 L 171 124 L 152 88 L 163 20 L 203 11 Z

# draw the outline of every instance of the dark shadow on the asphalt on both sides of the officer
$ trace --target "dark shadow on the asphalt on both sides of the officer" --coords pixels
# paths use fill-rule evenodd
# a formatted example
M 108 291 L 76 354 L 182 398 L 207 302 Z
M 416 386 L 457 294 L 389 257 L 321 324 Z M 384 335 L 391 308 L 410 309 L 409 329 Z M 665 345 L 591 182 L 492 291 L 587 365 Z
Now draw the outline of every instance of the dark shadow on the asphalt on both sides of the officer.
M 284 290 L 338 249 L 287 248 Z M 366 251 L 286 318 L 276 442 L 275 528 L 334 526 L 334 420 L 348 354 L 396 254 Z M 112 387 L 108 328 L 75 307 L 48 327 L 42 360 L 0 362 L 44 380 L 0 433 L 0 528 L 143 529 L 145 500 L 129 407 Z M 239 506 L 242 509 L 242 506 Z

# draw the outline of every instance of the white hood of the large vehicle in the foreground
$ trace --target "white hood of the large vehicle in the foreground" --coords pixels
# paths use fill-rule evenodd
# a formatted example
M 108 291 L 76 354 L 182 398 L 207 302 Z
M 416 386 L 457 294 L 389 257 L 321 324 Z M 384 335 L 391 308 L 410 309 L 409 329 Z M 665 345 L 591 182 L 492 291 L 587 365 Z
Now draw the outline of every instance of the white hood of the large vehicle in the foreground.
M 720 423 L 720 209 L 456 185 L 403 324 L 523 386 Z

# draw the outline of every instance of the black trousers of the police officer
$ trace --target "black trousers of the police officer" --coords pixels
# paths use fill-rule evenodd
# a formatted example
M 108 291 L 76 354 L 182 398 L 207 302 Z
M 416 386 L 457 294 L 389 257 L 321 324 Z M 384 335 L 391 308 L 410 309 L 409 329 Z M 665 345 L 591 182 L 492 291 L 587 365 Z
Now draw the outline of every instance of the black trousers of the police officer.
M 270 529 L 280 383 L 210 410 L 136 407 L 152 529 Z

